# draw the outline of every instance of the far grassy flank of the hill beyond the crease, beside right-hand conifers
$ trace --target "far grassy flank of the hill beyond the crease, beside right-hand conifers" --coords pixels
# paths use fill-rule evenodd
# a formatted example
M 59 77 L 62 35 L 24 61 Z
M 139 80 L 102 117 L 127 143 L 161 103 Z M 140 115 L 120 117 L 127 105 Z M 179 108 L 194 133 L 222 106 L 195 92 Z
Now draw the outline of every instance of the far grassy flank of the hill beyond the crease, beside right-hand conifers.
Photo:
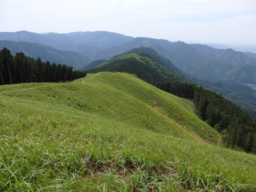
M 98 82 L 104 82 L 108 87 L 111 86 L 122 90 L 129 96 L 132 95 L 159 110 L 169 119 L 185 127 L 186 130 L 194 131 L 203 139 L 217 143 L 218 134 L 190 112 L 193 111 L 190 101 L 160 91 L 138 78 L 129 78 L 129 76 L 131 75 L 124 73 L 115 73 L 115 75 L 113 73 L 105 73 L 97 77 L 97 79 Z

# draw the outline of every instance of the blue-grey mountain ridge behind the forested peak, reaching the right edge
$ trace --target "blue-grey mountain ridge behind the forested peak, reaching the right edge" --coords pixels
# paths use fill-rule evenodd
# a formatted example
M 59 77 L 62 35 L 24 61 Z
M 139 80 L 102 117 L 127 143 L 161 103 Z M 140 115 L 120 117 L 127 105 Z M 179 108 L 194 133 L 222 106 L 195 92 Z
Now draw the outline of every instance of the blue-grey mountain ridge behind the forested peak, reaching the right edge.
M 188 45 L 181 41 L 169 42 L 145 37 L 137 37 L 121 46 L 100 50 L 88 56 L 92 59 L 107 59 L 138 47 L 152 48 L 172 61 L 183 72 L 211 81 L 233 80 L 226 75 L 229 71 L 238 66 L 256 66 L 256 58 L 231 49 L 217 50 L 200 44 Z M 243 73 L 248 73 L 245 75 L 250 76 L 249 71 Z M 243 80 L 244 74 L 238 74 L 236 81 L 245 82 Z M 246 83 L 248 80 L 256 84 L 256 81 L 250 77 L 246 79 Z

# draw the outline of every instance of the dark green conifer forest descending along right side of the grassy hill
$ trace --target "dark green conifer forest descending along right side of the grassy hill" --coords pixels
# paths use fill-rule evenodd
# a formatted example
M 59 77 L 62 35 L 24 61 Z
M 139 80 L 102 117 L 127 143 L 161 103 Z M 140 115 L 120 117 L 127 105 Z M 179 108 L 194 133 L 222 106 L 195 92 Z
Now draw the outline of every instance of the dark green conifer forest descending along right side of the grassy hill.
M 222 134 L 226 147 L 256 153 L 256 120 L 239 106 L 196 84 L 155 81 L 151 84 L 168 93 L 191 99 L 199 116 Z

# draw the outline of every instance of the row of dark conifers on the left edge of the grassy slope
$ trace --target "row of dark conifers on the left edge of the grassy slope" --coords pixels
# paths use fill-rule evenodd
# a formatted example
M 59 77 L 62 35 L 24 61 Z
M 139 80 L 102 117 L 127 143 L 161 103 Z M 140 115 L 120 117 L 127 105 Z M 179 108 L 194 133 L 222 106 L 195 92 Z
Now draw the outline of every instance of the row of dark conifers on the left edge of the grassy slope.
M 73 71 L 72 67 L 43 62 L 23 52 L 13 56 L 7 48 L 0 50 L 0 85 L 26 82 L 71 81 L 86 76 L 86 71 Z

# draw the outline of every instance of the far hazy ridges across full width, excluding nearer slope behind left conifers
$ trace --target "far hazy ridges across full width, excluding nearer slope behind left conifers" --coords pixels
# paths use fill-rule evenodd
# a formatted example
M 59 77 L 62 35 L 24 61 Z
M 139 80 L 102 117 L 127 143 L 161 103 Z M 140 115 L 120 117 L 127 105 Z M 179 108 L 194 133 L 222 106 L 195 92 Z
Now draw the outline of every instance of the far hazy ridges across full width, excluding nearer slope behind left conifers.
M 231 49 L 215 49 L 201 44 L 188 45 L 181 41 L 170 42 L 148 37 L 134 38 L 106 31 L 67 34 L 0 32 L 0 40 L 37 42 L 63 51 L 79 52 L 92 60 L 109 59 L 134 48 L 149 47 L 172 61 L 183 72 L 198 78 L 256 84 L 256 81 L 250 78 L 251 73 L 246 70 L 241 74 L 237 71 L 236 79 L 230 76 L 231 71 L 238 66 L 256 66 L 256 58 Z M 247 78 L 244 78 L 245 76 Z

